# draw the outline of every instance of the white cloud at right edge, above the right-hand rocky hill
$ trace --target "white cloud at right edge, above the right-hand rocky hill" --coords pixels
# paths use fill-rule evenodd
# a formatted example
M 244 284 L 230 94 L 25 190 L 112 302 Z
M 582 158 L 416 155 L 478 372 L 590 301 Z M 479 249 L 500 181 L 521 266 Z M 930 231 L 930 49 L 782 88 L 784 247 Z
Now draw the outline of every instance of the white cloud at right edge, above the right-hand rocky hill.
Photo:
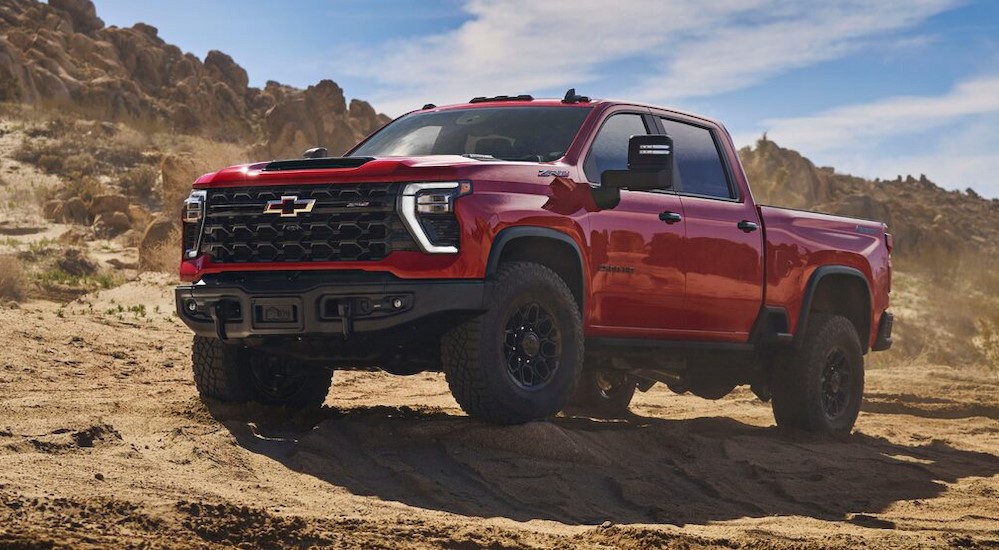
M 923 173 L 944 187 L 999 198 L 999 75 L 937 96 L 886 98 L 764 126 L 777 143 L 840 172 Z

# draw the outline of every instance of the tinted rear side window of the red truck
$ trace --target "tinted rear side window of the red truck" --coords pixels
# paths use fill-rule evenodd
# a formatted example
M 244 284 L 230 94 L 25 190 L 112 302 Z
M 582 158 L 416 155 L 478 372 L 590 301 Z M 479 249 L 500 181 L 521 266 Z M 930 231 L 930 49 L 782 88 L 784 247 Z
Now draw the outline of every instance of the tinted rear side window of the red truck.
M 665 118 L 662 122 L 666 134 L 673 138 L 677 189 L 690 195 L 733 198 L 711 131 Z

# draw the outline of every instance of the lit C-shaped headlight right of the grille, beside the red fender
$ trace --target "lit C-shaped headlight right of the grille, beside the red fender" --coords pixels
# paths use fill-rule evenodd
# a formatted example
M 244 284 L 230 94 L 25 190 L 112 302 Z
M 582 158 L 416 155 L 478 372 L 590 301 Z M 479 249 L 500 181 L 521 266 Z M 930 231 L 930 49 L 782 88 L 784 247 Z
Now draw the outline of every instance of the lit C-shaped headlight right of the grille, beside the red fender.
M 472 192 L 468 181 L 410 183 L 399 197 L 399 214 L 420 249 L 430 254 L 458 252 L 460 228 L 454 201 Z

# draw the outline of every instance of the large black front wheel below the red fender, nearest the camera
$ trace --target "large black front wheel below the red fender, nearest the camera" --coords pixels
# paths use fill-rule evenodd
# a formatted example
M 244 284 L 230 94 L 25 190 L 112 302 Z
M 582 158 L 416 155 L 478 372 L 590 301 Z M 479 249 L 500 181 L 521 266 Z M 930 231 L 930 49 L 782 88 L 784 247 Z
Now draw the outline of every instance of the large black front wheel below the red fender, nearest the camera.
M 538 264 L 504 263 L 485 305 L 485 313 L 442 338 L 455 400 L 470 416 L 497 424 L 562 410 L 583 358 L 583 322 L 565 282 Z

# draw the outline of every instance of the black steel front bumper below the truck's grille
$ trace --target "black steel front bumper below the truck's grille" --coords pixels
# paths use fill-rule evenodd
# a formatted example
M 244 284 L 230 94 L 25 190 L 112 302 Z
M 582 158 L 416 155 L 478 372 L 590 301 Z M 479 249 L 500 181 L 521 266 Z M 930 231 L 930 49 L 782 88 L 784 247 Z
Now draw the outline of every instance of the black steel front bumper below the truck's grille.
M 390 330 L 446 313 L 482 310 L 482 281 L 233 280 L 178 286 L 177 315 L 198 335 L 338 334 Z

